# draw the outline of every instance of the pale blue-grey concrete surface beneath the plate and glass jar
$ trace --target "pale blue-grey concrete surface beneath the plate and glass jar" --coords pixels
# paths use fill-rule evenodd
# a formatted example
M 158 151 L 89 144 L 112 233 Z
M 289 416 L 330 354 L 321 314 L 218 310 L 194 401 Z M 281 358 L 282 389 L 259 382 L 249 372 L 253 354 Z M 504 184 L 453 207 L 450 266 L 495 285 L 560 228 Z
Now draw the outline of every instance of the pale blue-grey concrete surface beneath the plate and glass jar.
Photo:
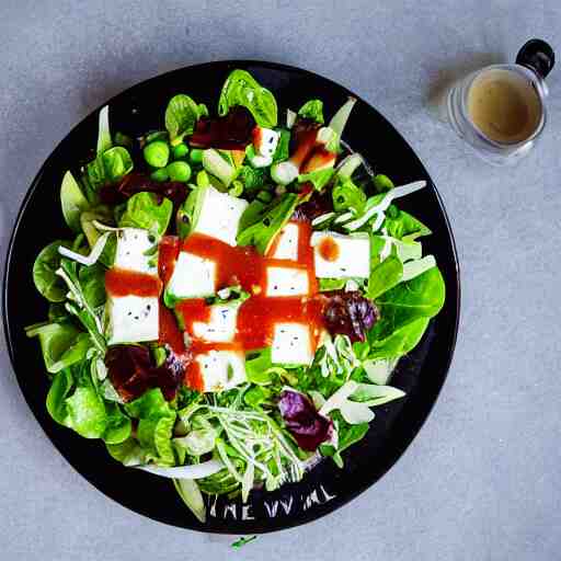
M 2 341 L 0 558 L 561 559 L 561 64 L 543 139 L 514 169 L 470 156 L 426 108 L 443 80 L 512 59 L 531 36 L 561 53 L 558 0 L 2 0 L 2 256 L 41 163 L 92 108 L 165 70 L 257 58 L 343 83 L 401 130 L 444 197 L 463 301 L 448 381 L 394 469 L 331 516 L 239 552 L 90 486 L 33 419 Z

